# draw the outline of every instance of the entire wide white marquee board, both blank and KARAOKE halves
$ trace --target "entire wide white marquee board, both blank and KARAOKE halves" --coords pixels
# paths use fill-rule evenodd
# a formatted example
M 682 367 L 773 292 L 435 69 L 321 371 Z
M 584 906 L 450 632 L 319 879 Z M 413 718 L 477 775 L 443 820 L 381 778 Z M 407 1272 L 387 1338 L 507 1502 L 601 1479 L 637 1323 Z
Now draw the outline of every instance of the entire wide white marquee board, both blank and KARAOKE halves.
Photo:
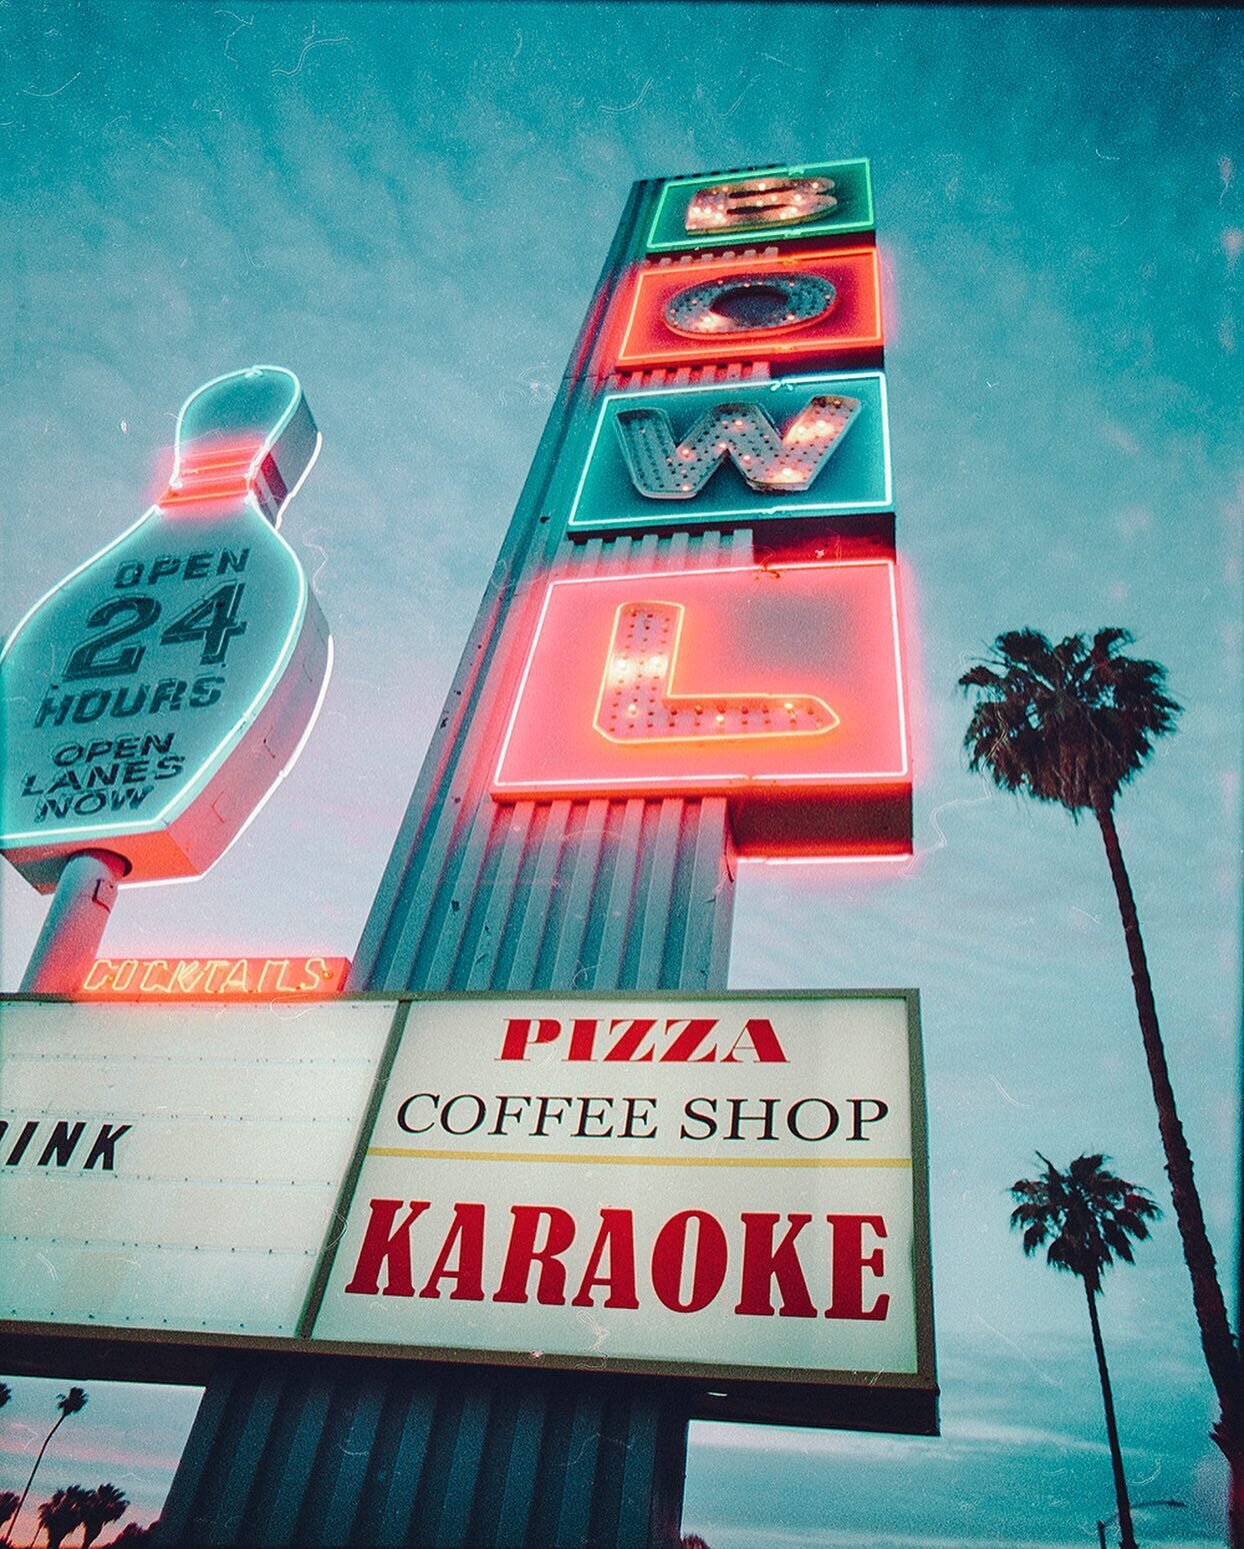
M 919 1061 L 914 991 L 0 1001 L 0 1321 L 931 1402 Z

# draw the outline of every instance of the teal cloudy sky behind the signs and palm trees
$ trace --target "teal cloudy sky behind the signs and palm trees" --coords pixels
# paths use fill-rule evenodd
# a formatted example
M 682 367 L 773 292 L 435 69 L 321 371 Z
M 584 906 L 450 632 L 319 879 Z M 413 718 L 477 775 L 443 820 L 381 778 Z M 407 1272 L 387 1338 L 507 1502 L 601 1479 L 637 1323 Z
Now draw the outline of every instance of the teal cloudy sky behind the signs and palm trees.
M 336 638 L 314 737 L 208 878 L 122 894 L 112 956 L 353 951 L 631 181 L 872 161 L 917 857 L 745 867 L 731 984 L 922 991 L 943 1436 L 696 1427 L 713 1549 L 1052 1549 L 1114 1510 L 1083 1297 L 1022 1258 L 1007 1185 L 1103 1149 L 1170 1202 L 1100 840 L 967 773 L 954 683 L 999 630 L 1128 627 L 1185 706 L 1119 819 L 1233 1281 L 1242 36 L 1160 9 L 0 6 L 0 629 L 141 513 L 209 376 L 290 366 L 324 432 L 284 528 Z M 0 906 L 15 988 L 45 905 L 6 869 Z M 1142 1541 L 1221 1541 L 1170 1210 L 1103 1324 L 1132 1495 L 1188 1503 Z M 99 1445 L 166 1458 L 174 1410 L 133 1399 Z

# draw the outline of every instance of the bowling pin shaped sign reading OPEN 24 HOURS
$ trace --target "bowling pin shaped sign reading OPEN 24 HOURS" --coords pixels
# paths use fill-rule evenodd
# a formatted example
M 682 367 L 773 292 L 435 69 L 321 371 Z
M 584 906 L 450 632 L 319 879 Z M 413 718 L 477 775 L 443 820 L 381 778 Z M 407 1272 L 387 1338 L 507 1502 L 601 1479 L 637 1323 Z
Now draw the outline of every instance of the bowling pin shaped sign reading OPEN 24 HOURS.
M 209 381 L 156 503 L 9 635 L 0 853 L 40 892 L 85 849 L 201 875 L 293 764 L 332 640 L 279 524 L 319 443 L 293 372 Z

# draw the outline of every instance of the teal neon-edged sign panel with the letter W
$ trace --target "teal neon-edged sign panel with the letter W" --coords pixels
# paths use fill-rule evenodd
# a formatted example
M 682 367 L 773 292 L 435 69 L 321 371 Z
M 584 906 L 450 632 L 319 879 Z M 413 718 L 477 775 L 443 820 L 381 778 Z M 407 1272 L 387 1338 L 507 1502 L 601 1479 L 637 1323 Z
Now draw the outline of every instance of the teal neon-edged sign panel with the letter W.
M 891 510 L 881 372 L 607 393 L 570 533 Z

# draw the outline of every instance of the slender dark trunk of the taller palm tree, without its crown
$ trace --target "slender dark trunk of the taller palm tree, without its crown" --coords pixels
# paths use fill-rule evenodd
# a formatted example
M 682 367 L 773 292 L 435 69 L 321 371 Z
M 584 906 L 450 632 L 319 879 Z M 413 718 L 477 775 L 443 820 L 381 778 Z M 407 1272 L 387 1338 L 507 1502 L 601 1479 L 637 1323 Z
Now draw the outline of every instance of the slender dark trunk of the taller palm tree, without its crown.
M 1230 1323 L 1227 1321 L 1227 1304 L 1222 1298 L 1222 1287 L 1218 1283 L 1218 1267 L 1210 1236 L 1205 1230 L 1205 1216 L 1201 1210 L 1196 1179 L 1193 1177 L 1191 1151 L 1188 1149 L 1184 1126 L 1179 1121 L 1174 1106 L 1174 1090 L 1171 1089 L 1167 1053 L 1162 1047 L 1162 1033 L 1157 1025 L 1157 1007 L 1153 999 L 1149 967 L 1145 960 L 1145 942 L 1140 936 L 1140 919 L 1136 912 L 1136 898 L 1132 897 L 1128 869 L 1123 864 L 1123 850 L 1119 844 L 1114 813 L 1108 801 L 1098 804 L 1094 810 L 1101 827 L 1106 860 L 1111 866 L 1111 878 L 1114 880 L 1114 891 L 1119 898 L 1119 914 L 1123 920 L 1123 937 L 1128 943 L 1136 1013 L 1140 1019 L 1140 1038 L 1145 1044 L 1145 1060 L 1149 1067 L 1154 1103 L 1157 1104 L 1157 1129 L 1167 1154 L 1167 1177 L 1171 1182 L 1171 1200 L 1174 1204 L 1176 1221 L 1179 1222 L 1179 1235 L 1184 1239 L 1184 1258 L 1193 1283 L 1193 1307 L 1196 1309 L 1196 1321 L 1201 1327 L 1201 1348 L 1205 1352 L 1205 1365 L 1210 1369 L 1210 1379 L 1218 1393 L 1221 1408 L 1213 1439 L 1222 1448 L 1232 1472 L 1232 1544 L 1236 1549 L 1244 1549 L 1244 1393 L 1241 1391 L 1244 1383 L 1241 1382 L 1239 1352 Z

